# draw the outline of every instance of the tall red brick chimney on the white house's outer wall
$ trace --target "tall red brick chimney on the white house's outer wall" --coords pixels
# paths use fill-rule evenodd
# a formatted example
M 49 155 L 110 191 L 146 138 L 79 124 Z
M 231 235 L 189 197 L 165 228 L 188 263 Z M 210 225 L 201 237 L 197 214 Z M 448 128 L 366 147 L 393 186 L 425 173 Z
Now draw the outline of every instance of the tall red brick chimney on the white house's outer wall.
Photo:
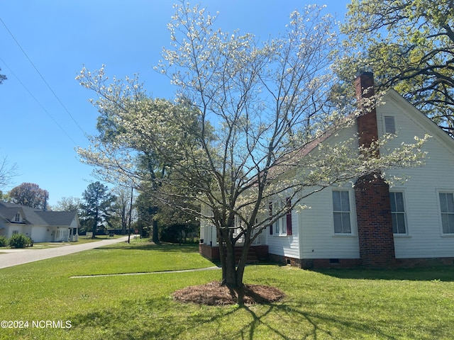
M 362 101 L 375 95 L 372 72 L 358 75 L 355 91 L 363 111 L 357 118 L 359 144 L 370 147 L 378 140 L 377 111 L 375 106 L 364 105 Z M 375 154 L 375 157 L 380 157 L 380 154 Z M 360 263 L 369 267 L 392 266 L 395 253 L 389 186 L 381 179 L 380 173 L 362 176 L 356 181 L 355 203 Z

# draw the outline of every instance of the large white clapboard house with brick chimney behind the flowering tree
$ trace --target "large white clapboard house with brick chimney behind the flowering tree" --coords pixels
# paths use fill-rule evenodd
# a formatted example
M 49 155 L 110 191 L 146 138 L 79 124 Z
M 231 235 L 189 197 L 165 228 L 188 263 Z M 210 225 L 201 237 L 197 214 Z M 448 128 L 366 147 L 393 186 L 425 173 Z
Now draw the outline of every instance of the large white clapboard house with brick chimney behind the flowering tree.
M 372 74 L 361 74 L 355 86 L 357 94 L 362 94 L 363 89 L 373 86 Z M 292 211 L 282 217 L 280 225 L 268 227 L 260 235 L 270 259 L 301 268 L 453 264 L 453 138 L 396 91 L 389 90 L 376 110 L 324 144 L 357 133 L 359 144 L 364 144 L 361 138 L 373 139 L 388 132 L 397 133 L 391 147 L 414 142 L 414 136 L 431 135 L 423 147 L 427 152 L 425 165 L 387 171 L 389 175 L 409 176 L 408 181 L 392 188 L 373 178 L 358 179 L 355 186 L 326 188 L 304 199 L 302 203 L 310 209 Z M 212 229 L 201 225 L 201 250 L 210 244 L 217 246 Z

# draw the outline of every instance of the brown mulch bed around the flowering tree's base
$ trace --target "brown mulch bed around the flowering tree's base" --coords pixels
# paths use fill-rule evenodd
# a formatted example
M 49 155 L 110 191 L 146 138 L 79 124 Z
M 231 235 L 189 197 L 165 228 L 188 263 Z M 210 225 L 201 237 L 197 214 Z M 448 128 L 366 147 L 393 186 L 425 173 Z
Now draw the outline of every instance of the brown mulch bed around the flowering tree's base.
M 267 285 L 244 285 L 243 288 L 230 289 L 218 281 L 213 281 L 206 285 L 194 285 L 177 290 L 173 297 L 180 302 L 213 306 L 234 305 L 238 303 L 239 294 L 243 296 L 245 305 L 277 302 L 285 296 L 281 290 Z

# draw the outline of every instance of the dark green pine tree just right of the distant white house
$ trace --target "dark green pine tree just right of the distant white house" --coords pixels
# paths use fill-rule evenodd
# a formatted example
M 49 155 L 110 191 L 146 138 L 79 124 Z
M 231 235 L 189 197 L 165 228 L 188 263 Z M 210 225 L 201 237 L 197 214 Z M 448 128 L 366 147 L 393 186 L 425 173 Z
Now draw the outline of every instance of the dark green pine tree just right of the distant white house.
M 109 193 L 109 188 L 104 184 L 96 181 L 90 183 L 87 189 L 82 193 L 84 201 L 82 208 L 84 210 L 83 220 L 92 224 L 92 239 L 96 238 L 96 229 L 108 225 L 112 213 L 112 204 L 116 197 Z

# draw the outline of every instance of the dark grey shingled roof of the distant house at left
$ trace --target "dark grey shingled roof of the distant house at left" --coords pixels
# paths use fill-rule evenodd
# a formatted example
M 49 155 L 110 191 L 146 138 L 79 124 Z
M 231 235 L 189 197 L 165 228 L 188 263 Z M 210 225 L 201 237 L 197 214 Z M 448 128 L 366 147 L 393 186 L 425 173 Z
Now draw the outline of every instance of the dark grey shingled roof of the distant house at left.
M 27 225 L 60 225 L 70 226 L 76 211 L 43 211 L 9 202 L 0 201 L 0 216 L 9 222 L 14 222 L 17 212 L 21 213 L 23 223 Z

